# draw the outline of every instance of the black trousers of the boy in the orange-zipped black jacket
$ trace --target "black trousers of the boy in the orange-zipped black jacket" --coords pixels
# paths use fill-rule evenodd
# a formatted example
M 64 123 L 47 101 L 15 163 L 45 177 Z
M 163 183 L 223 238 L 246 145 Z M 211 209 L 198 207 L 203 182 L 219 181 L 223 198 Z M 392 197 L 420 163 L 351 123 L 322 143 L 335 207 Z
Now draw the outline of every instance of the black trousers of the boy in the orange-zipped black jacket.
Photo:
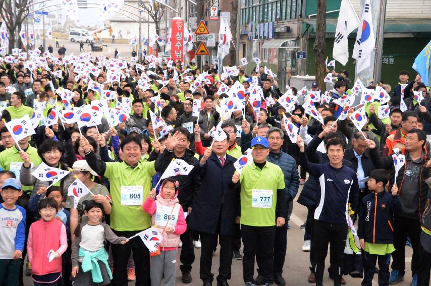
M 371 286 L 372 278 L 374 277 L 375 262 L 379 261 L 379 286 L 389 285 L 389 262 L 391 262 L 391 254 L 376 255 L 362 251 L 363 265 L 364 265 L 364 278 L 362 279 L 362 286 Z

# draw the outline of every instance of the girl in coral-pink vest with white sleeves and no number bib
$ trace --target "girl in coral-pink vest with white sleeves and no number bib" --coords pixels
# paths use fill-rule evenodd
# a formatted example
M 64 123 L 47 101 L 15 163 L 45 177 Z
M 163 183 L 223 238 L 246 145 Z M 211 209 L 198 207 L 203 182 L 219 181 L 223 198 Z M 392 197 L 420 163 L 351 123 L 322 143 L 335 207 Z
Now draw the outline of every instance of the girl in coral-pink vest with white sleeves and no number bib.
M 56 286 L 62 276 L 62 254 L 67 249 L 66 226 L 56 219 L 55 199 L 41 200 L 38 209 L 41 218 L 31 224 L 27 240 L 31 276 L 35 286 Z

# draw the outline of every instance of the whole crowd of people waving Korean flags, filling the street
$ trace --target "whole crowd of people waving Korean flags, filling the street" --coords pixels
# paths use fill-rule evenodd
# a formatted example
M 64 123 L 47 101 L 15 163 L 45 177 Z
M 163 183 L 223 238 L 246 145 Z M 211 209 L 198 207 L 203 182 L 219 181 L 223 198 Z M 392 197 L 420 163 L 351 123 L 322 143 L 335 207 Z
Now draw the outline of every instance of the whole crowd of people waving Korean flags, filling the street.
M 154 56 L 34 53 L 33 66 L 15 56 L 0 68 L 0 285 L 24 285 L 26 274 L 34 285 L 171 286 L 178 262 L 183 283 L 208 286 L 217 248 L 218 286 L 229 285 L 233 259 L 246 286 L 285 285 L 295 198 L 308 209 L 308 282 L 323 285 L 330 245 L 334 285 L 348 274 L 371 285 L 374 273 L 397 283 L 409 244 L 410 285 L 429 285 L 431 100 L 419 75 L 401 71 L 382 102 L 372 92 L 389 86 L 353 84 L 347 71 L 334 72 L 331 90 L 313 82 L 283 93 L 266 67 L 247 75 Z M 353 106 L 361 90 L 372 98 Z M 109 107 L 99 124 L 56 117 L 93 101 Z M 113 124 L 116 110 L 127 120 Z M 15 140 L 27 115 L 34 132 Z M 40 165 L 63 178 L 37 176 Z M 163 237 L 156 251 L 141 235 L 150 227 Z

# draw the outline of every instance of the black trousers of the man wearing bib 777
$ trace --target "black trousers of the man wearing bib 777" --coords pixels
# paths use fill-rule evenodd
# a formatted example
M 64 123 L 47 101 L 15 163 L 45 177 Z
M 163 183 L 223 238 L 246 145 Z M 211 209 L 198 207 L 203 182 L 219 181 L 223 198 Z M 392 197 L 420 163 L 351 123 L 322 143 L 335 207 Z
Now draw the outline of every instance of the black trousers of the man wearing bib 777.
M 244 282 L 254 283 L 254 257 L 263 277 L 263 283 L 274 281 L 274 239 L 276 226 L 250 226 L 241 224 L 244 258 L 242 272 Z

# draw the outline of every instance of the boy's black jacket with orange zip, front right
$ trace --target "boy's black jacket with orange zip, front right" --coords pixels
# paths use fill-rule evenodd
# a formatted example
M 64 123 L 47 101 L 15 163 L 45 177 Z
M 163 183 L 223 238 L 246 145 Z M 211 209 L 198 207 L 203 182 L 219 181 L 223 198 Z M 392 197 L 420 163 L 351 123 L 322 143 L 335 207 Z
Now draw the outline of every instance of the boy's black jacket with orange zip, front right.
M 361 202 L 358 237 L 368 243 L 394 242 L 394 214 L 399 213 L 398 196 L 385 191 L 366 195 Z

